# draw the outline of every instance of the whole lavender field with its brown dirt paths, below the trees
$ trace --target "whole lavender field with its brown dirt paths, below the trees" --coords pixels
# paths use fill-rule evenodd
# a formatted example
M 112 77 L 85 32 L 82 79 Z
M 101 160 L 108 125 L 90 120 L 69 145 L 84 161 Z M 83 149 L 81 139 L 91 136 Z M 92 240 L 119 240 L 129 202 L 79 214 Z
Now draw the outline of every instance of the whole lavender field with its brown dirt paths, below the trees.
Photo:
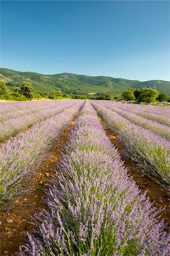
M 168 107 L 1 102 L 0 254 L 170 255 L 169 140 Z M 148 198 L 121 154 L 165 198 Z

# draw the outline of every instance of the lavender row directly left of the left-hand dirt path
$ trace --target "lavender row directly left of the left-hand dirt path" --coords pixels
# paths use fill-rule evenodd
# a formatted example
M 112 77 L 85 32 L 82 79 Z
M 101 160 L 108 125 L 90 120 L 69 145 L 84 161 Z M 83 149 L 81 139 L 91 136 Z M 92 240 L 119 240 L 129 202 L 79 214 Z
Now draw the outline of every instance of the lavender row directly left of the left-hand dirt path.
M 59 138 L 68 122 L 84 101 L 77 101 L 71 108 L 60 107 L 60 114 L 32 126 L 25 133 L 9 139 L 0 148 L 0 199 L 9 200 L 20 191 L 20 183 L 28 173 L 38 167 L 52 142 Z M 74 101 L 75 103 L 75 101 Z M 65 110 L 66 109 L 66 110 Z

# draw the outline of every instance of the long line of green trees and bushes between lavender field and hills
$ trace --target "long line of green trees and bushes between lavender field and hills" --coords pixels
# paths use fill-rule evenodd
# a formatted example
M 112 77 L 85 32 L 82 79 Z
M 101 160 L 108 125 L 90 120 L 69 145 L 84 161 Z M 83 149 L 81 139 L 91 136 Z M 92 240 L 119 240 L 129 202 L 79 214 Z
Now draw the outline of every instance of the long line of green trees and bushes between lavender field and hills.
M 36 93 L 30 82 L 23 81 L 20 86 L 13 89 L 7 88 L 5 82 L 0 80 L 0 99 L 2 100 L 14 100 L 14 101 L 26 101 L 32 99 L 49 98 L 51 100 L 57 100 L 61 98 L 73 98 L 84 100 L 125 100 L 135 103 L 149 104 L 151 102 L 170 102 L 170 97 L 166 93 L 159 93 L 155 89 L 151 88 L 128 88 L 122 95 L 113 96 L 112 94 L 100 94 L 95 95 L 78 95 L 78 94 L 65 94 L 61 92 L 61 89 L 56 88 L 55 92 L 51 93 Z

